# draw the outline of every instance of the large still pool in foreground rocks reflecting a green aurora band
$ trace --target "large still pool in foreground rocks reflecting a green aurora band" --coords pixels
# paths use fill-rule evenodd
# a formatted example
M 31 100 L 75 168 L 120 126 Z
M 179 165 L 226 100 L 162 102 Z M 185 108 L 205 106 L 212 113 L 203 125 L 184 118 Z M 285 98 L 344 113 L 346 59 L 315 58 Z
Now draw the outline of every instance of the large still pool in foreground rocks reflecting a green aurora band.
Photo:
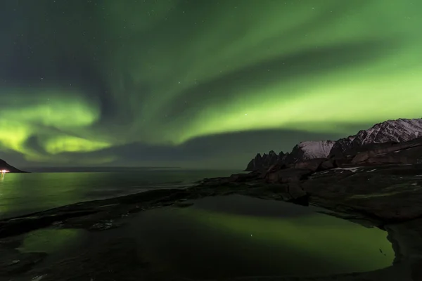
M 131 233 L 155 265 L 191 278 L 326 275 L 392 264 L 387 233 L 317 208 L 240 195 L 140 213 Z

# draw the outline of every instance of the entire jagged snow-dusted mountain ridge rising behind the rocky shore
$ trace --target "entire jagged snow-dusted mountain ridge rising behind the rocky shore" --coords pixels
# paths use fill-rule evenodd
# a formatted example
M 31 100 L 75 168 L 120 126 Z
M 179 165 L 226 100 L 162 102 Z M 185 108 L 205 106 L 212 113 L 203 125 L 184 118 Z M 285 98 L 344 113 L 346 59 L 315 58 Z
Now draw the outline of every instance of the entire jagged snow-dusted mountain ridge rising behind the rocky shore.
M 273 164 L 293 164 L 314 158 L 343 157 L 362 146 L 376 143 L 403 143 L 422 137 L 422 119 L 388 120 L 359 131 L 354 136 L 340 138 L 338 141 L 303 141 L 295 145 L 292 152 L 280 152 L 277 155 L 271 150 L 252 159 L 246 171 L 267 169 Z

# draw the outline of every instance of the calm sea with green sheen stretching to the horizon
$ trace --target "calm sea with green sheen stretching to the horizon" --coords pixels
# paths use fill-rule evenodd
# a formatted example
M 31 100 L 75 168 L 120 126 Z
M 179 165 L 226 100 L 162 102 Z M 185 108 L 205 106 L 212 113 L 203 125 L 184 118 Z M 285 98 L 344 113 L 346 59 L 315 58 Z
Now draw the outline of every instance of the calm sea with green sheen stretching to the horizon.
M 0 178 L 0 219 L 154 189 L 187 188 L 203 178 L 238 172 L 150 167 L 5 174 Z

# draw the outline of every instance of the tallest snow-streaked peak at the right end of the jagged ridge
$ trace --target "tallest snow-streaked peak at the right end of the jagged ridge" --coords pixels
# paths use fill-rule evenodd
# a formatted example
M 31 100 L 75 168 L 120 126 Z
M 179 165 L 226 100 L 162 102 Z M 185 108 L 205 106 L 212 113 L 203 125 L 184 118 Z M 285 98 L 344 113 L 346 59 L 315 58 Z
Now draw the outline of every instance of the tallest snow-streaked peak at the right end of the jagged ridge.
M 422 137 L 422 119 L 387 120 L 354 136 L 340 138 L 331 149 L 330 156 L 342 157 L 344 152 L 356 150 L 372 143 L 403 143 Z

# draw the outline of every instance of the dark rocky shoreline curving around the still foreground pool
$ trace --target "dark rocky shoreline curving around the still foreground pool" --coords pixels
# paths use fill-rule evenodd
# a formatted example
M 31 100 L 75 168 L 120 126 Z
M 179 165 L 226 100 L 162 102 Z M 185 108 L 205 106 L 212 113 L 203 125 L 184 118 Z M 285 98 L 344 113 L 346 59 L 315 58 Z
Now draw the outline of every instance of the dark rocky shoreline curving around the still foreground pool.
M 395 251 L 392 266 L 369 273 L 325 277 L 254 277 L 243 280 L 422 280 L 422 139 L 383 144 L 343 158 L 319 158 L 266 171 L 204 179 L 185 189 L 151 190 L 107 200 L 82 202 L 0 221 L 1 251 L 30 230 L 55 226 L 101 231 L 147 209 L 189 207 L 191 200 L 216 195 L 247 195 L 326 209 L 325 214 L 388 232 Z M 9 246 L 7 246 L 9 245 Z M 13 252 L 16 254 L 15 252 Z M 12 254 L 13 254 L 12 253 Z M 3 255 L 6 256 L 6 255 Z M 26 263 L 0 263 L 0 274 L 23 273 L 43 254 Z M 167 278 L 168 280 L 168 278 Z

